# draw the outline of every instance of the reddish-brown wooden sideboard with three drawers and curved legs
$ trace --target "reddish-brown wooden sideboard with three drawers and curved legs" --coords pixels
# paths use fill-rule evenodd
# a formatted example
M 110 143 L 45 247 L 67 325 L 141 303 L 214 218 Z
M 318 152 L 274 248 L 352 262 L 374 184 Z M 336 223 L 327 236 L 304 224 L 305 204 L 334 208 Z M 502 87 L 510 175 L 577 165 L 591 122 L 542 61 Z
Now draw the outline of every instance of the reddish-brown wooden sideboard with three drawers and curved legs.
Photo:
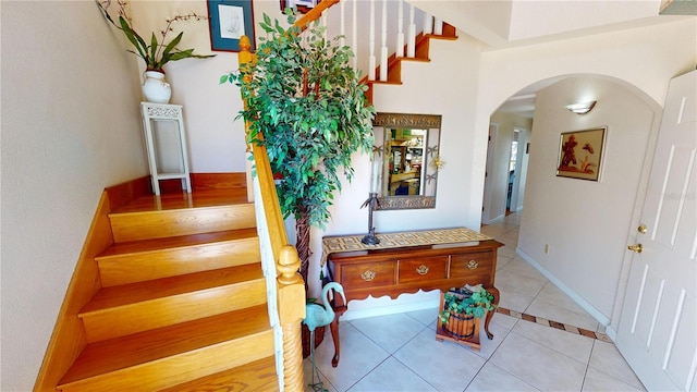
M 346 302 L 365 299 L 369 295 L 388 295 L 396 298 L 400 294 L 416 293 L 419 290 L 439 289 L 448 291 L 464 284 L 481 283 L 499 303 L 499 291 L 494 287 L 497 250 L 503 244 L 493 241 L 470 243 L 409 246 L 384 249 L 339 252 L 327 255 L 330 278 L 344 287 Z M 339 317 L 346 310 L 340 295 L 334 295 L 337 318 L 331 332 L 337 348 L 332 366 L 339 364 Z M 489 339 L 488 313 L 485 331 Z

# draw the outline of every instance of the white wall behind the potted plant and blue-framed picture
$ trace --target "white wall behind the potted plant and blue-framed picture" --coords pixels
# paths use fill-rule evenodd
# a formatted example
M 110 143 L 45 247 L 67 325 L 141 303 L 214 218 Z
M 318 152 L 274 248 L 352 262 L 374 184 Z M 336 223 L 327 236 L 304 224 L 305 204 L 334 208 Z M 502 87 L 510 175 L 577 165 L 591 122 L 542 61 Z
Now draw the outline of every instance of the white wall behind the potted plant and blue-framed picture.
M 135 0 L 131 8 L 135 29 L 147 37 L 150 32 L 156 32 L 158 38 L 157 32 L 164 28 L 167 17 L 189 12 L 208 15 L 206 1 Z M 279 1 L 257 0 L 253 2 L 253 10 L 257 38 L 264 34 L 258 22 L 265 12 L 281 22 L 285 21 Z M 219 84 L 221 75 L 237 70 L 237 53 L 211 50 L 208 21 L 182 22 L 173 27 L 175 29 L 168 35 L 168 39 L 184 32 L 180 48 L 194 48 L 195 53 L 199 54 L 216 54 L 215 58 L 185 59 L 164 65 L 167 81 L 172 86 L 171 103 L 184 106 L 191 171 L 244 172 L 244 122 L 234 120 L 242 110 L 240 89 L 232 84 Z M 124 50 L 132 49 L 125 42 L 122 47 Z M 144 62 L 135 56 L 133 59 L 138 62 L 142 72 Z

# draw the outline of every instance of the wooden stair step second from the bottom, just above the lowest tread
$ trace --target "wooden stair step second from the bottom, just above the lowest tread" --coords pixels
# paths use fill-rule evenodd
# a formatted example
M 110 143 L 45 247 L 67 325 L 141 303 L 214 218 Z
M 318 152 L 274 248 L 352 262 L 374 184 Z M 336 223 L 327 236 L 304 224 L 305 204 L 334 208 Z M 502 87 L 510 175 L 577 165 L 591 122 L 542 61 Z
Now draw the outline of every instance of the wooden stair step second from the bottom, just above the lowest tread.
M 87 344 L 62 391 L 155 391 L 273 356 L 266 305 Z

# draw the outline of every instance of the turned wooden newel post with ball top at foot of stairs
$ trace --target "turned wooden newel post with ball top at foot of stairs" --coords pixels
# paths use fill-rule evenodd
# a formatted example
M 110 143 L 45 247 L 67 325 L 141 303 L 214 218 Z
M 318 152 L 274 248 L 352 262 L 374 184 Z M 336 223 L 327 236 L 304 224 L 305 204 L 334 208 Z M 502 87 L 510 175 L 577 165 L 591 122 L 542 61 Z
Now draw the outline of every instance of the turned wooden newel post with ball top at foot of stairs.
M 283 330 L 283 384 L 286 391 L 303 391 L 303 346 L 301 322 L 305 318 L 305 284 L 297 273 L 297 249 L 284 245 L 277 269 L 278 309 Z

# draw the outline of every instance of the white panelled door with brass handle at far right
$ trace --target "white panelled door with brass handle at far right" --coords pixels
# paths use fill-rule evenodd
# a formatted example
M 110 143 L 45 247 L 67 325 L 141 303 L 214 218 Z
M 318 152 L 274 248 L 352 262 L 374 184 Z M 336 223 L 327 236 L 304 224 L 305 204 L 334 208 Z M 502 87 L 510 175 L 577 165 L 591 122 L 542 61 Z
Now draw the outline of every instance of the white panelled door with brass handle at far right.
M 696 96 L 671 81 L 615 342 L 649 391 L 697 390 Z

